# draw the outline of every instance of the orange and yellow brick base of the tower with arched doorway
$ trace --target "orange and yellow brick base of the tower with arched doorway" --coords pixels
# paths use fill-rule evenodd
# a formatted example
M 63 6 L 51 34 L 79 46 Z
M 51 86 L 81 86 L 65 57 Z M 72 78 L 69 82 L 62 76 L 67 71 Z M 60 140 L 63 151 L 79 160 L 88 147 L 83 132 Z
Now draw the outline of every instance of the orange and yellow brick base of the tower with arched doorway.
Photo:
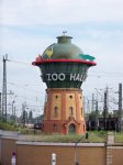
M 82 91 L 76 88 L 46 89 L 43 132 L 75 133 L 86 132 Z

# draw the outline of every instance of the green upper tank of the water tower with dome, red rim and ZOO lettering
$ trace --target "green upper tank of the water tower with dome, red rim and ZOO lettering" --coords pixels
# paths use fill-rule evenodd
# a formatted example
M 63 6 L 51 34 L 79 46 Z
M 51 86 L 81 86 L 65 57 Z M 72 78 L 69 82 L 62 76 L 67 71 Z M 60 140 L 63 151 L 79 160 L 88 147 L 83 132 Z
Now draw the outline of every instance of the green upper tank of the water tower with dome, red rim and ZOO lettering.
M 57 43 L 49 45 L 38 55 L 36 65 L 47 88 L 80 88 L 87 78 L 89 67 L 94 66 L 94 57 L 83 54 L 71 43 L 71 36 L 58 36 Z

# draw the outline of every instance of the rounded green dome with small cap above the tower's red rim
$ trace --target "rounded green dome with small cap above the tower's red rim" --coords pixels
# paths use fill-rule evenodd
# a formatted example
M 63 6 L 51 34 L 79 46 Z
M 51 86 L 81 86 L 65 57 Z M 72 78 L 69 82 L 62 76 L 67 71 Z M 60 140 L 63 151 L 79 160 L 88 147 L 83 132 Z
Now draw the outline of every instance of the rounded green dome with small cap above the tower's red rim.
M 71 36 L 58 36 L 57 43 L 49 45 L 43 53 L 43 59 L 81 59 L 82 51 L 71 43 Z

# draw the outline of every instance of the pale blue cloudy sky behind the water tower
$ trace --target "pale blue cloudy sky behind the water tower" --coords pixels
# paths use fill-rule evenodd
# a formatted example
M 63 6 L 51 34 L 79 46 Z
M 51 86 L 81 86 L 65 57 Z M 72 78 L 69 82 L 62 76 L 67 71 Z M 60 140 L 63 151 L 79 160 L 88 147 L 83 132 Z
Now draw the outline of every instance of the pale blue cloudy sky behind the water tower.
M 123 0 L 0 0 L 0 90 L 2 57 L 8 54 L 10 112 L 13 100 L 16 113 L 23 102 L 34 113 L 43 112 L 46 86 L 32 62 L 63 31 L 85 54 L 96 57 L 97 66 L 81 87 L 86 98 L 91 100 L 92 92 L 103 92 L 107 86 L 114 97 L 123 81 Z

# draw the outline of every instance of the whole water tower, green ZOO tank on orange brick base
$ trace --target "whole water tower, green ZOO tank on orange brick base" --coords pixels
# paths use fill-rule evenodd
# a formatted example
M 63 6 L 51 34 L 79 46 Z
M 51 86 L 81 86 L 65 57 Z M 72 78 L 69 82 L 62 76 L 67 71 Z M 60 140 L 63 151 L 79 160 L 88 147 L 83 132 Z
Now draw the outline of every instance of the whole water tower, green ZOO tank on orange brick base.
M 71 43 L 71 36 L 57 37 L 33 65 L 41 69 L 42 80 L 46 84 L 43 132 L 76 133 L 86 132 L 83 116 L 82 82 L 88 68 L 94 66 L 94 57 L 86 55 Z

